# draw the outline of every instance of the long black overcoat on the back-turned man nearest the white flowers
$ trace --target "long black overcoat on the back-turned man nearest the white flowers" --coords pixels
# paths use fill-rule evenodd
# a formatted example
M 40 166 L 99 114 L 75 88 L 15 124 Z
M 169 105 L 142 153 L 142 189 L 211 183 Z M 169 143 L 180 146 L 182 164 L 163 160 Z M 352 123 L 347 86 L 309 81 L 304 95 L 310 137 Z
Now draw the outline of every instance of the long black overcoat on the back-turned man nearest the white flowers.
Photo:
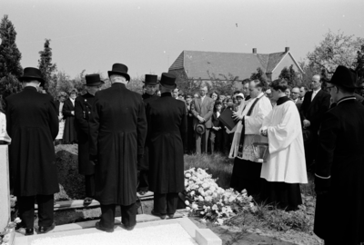
M 185 190 L 184 143 L 187 136 L 186 105 L 171 93 L 147 103 L 149 190 L 157 193 Z

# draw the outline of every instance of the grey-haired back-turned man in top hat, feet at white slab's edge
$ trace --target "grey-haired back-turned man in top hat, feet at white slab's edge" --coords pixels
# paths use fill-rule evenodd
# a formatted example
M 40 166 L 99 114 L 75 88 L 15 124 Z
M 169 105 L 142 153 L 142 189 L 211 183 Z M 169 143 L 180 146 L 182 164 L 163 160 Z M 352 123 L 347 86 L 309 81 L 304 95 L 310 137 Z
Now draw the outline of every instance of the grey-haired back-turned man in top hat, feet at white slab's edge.
M 96 93 L 90 127 L 90 160 L 95 162 L 95 199 L 101 204 L 96 229 L 112 232 L 116 205 L 127 230 L 136 225 L 137 160 L 143 156 L 147 120 L 142 96 L 126 89 L 125 64 L 108 72 L 110 88 Z

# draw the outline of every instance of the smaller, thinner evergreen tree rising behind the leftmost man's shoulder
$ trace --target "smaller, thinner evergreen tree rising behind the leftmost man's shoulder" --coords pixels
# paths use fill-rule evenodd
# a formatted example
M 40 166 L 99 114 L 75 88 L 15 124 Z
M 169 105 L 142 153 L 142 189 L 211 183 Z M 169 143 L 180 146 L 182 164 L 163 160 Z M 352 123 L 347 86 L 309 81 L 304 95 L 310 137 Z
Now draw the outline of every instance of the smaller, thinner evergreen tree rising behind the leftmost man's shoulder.
M 45 91 L 48 91 L 51 87 L 56 87 L 55 73 L 56 64 L 52 64 L 52 48 L 50 47 L 50 39 L 45 39 L 45 48 L 43 51 L 39 51 L 40 59 L 38 60 L 38 67 L 45 79 Z

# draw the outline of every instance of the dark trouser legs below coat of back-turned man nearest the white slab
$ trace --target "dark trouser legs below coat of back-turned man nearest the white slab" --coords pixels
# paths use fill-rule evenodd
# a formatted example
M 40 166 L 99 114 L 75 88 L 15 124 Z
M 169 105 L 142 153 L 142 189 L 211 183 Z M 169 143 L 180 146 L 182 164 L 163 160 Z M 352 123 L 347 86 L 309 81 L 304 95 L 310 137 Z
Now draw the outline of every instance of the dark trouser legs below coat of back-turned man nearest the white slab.
M 114 228 L 116 204 L 103 205 L 101 204 L 101 220 L 102 227 L 107 229 Z M 136 203 L 128 206 L 120 205 L 121 222 L 126 227 L 133 227 L 136 225 Z

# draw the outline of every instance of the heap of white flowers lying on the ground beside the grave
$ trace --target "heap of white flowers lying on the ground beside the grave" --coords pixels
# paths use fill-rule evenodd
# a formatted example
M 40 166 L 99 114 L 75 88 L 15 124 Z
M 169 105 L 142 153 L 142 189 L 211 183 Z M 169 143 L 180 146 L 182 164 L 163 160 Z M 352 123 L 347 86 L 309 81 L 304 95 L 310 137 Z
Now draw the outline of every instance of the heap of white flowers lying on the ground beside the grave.
M 241 211 L 257 211 L 247 191 L 224 190 L 216 181 L 203 169 L 185 171 L 187 211 L 219 225 Z

